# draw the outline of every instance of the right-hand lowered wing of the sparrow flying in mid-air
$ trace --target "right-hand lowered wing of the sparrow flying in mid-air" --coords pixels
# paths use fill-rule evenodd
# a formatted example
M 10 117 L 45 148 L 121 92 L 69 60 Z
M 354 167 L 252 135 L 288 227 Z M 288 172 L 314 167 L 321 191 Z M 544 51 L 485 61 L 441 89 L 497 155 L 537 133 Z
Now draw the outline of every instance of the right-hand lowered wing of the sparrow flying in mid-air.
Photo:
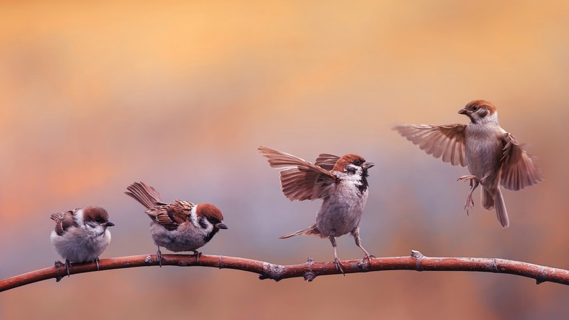
M 501 185 L 509 190 L 518 191 L 533 186 L 543 180 L 541 171 L 533 162 L 532 156 L 511 133 L 504 133 L 502 153 Z

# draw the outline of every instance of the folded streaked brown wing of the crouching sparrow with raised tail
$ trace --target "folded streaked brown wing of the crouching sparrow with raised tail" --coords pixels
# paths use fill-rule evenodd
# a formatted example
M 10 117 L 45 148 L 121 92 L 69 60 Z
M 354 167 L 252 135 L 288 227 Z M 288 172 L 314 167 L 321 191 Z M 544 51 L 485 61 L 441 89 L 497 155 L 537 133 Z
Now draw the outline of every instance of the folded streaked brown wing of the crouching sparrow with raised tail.
M 144 212 L 159 225 L 173 231 L 181 223 L 190 220 L 190 213 L 194 206 L 196 206 L 194 203 L 188 201 L 174 200 L 174 203 L 149 208 Z

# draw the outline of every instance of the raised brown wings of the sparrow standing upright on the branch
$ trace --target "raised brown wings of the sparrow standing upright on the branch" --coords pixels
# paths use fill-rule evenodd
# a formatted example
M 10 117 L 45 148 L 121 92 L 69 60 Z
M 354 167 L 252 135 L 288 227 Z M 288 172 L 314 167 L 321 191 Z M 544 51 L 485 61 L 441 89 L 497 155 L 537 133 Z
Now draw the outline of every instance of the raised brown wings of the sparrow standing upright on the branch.
M 259 151 L 268 159 L 273 168 L 284 169 L 280 171 L 280 183 L 282 193 L 290 200 L 313 200 L 329 196 L 331 186 L 334 186 L 339 178 L 330 171 L 321 168 L 309 161 L 300 159 L 292 154 L 260 146 Z M 325 166 L 328 165 L 329 159 Z

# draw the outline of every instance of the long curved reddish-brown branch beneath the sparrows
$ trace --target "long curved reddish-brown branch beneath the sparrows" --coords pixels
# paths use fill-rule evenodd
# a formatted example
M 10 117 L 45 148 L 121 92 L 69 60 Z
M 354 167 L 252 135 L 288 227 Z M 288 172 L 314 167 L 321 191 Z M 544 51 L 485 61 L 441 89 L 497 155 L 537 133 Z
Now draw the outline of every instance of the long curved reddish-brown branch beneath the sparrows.
M 497 258 L 425 257 L 415 250 L 410 256 L 405 257 L 378 257 L 371 261 L 346 260 L 341 263 L 346 273 L 382 270 L 494 272 L 533 278 L 537 284 L 541 282 L 569 284 L 569 270 Z M 156 255 L 132 255 L 100 260 L 99 269 L 112 270 L 153 265 L 158 265 Z M 274 265 L 269 262 L 221 255 L 201 255 L 199 259 L 196 259 L 196 255 L 162 255 L 162 265 L 243 270 L 259 274 L 259 279 L 275 281 L 294 277 L 303 277 L 307 281 L 312 281 L 320 275 L 341 274 L 336 270 L 334 262 L 314 262 L 311 258 L 299 265 Z M 70 268 L 70 274 L 94 271 L 97 271 L 97 266 L 89 262 L 76 263 Z M 46 279 L 55 278 L 60 281 L 65 275 L 65 265 L 56 261 L 53 267 L 0 280 L 0 292 Z

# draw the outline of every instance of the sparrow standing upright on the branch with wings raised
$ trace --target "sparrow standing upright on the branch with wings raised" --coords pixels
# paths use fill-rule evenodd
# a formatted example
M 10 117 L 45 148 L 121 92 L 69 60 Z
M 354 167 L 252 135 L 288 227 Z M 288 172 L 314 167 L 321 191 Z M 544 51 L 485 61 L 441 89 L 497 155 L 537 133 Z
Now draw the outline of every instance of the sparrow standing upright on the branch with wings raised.
M 259 151 L 273 168 L 280 171 L 282 193 L 290 200 L 314 200 L 324 202 L 316 215 L 316 223 L 309 228 L 283 235 L 318 235 L 328 238 L 334 247 L 334 264 L 344 273 L 336 254 L 336 237 L 351 233 L 356 245 L 370 260 L 370 255 L 361 246 L 360 219 L 363 206 L 368 200 L 368 169 L 373 166 L 357 154 L 339 157 L 320 154 L 314 164 L 285 152 L 260 146 Z

